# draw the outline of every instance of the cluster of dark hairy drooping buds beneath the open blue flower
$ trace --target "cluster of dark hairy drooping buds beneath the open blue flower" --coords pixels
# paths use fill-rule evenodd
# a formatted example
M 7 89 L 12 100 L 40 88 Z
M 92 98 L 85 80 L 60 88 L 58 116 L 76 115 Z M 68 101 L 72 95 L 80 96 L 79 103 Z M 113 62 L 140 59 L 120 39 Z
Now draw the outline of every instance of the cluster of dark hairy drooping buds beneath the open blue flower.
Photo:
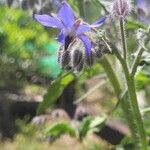
M 95 33 L 88 32 L 87 36 L 92 42 L 91 54 L 86 53 L 82 41 L 76 38 L 69 44 L 67 49 L 64 45 L 59 48 L 58 63 L 61 68 L 80 72 L 85 67 L 91 67 L 96 58 L 101 58 L 106 53 L 106 44 L 100 41 Z

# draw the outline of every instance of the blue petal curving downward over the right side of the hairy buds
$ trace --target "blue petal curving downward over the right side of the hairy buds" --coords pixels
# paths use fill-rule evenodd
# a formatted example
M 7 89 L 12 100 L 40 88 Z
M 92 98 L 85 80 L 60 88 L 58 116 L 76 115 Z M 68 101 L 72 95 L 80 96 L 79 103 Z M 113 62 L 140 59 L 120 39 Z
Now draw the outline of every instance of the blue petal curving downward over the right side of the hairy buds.
M 91 55 L 92 43 L 90 39 L 85 35 L 80 35 L 79 39 L 83 42 L 87 56 Z

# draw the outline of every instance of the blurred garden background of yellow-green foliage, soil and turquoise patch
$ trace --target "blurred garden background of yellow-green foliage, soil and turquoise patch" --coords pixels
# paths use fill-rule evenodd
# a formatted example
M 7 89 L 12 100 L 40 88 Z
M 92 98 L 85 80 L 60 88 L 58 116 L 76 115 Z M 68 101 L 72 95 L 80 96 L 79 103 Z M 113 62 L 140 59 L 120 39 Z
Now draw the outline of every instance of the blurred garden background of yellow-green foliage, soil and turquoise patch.
M 129 130 L 100 60 L 82 73 L 64 72 L 57 63 L 58 33 L 33 19 L 33 13 L 59 9 L 53 0 L 0 0 L 0 149 L 107 150 L 132 149 Z M 134 1 L 126 24 L 130 54 L 137 48 L 138 28 L 150 22 L 150 1 Z M 109 13 L 111 0 L 68 0 L 85 21 Z M 118 38 L 110 18 L 102 26 L 109 38 Z M 120 67 L 112 55 L 116 71 Z M 144 53 L 136 76 L 139 105 L 150 136 L 150 55 Z M 140 68 L 143 71 L 140 71 Z M 61 75 L 66 78 L 60 81 Z M 118 76 L 123 79 L 121 72 Z M 56 86 L 50 84 L 56 79 Z M 42 103 L 45 100 L 45 103 Z M 78 101 L 78 102 L 76 102 Z M 76 102 L 76 103 L 75 103 Z

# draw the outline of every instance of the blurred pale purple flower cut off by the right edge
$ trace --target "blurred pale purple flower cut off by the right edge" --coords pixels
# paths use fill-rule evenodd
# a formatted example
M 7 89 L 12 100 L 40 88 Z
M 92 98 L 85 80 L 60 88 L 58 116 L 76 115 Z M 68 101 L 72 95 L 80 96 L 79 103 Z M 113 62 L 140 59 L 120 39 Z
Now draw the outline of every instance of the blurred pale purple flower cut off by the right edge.
M 150 24 L 150 3 L 149 0 L 137 0 L 138 18 L 145 24 Z

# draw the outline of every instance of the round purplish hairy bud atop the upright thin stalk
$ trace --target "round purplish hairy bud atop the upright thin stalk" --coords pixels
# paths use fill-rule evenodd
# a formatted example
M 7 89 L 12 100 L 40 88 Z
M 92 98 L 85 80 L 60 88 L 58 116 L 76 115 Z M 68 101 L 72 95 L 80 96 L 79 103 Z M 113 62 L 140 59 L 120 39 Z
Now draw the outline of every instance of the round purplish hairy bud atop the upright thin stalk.
M 113 4 L 113 13 L 117 17 L 126 17 L 131 11 L 131 4 L 129 0 L 115 0 Z

